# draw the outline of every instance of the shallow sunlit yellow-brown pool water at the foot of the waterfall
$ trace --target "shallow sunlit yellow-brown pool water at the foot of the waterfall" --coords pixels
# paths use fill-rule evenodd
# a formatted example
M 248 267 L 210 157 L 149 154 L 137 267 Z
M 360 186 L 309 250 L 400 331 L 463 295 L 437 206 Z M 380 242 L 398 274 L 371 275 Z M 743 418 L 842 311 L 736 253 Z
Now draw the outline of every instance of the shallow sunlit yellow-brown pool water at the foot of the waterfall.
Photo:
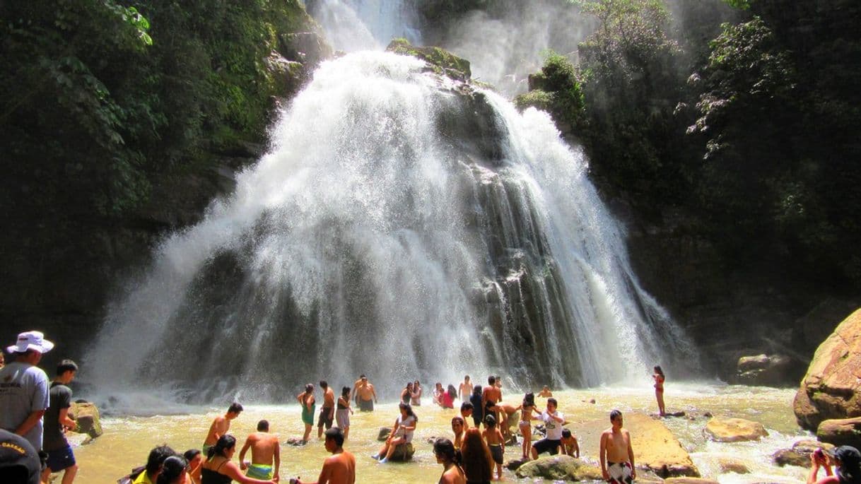
M 504 388 L 505 390 L 505 388 Z M 667 427 L 678 437 L 703 477 L 725 483 L 742 482 L 797 482 L 806 475 L 802 468 L 779 468 L 771 463 L 771 454 L 788 448 L 801 438 L 809 438 L 806 431 L 798 429 L 791 410 L 794 390 L 773 388 L 748 388 L 726 386 L 717 383 L 667 384 L 666 404 L 668 411 L 687 413 L 686 418 L 664 419 Z M 607 415 L 613 408 L 623 413 L 654 413 L 653 393 L 643 388 L 590 388 L 554 392 L 565 414 L 568 428 L 580 439 L 580 448 L 585 460 L 597 462 L 598 435 L 609 426 Z M 506 396 L 504 400 L 516 403 L 521 394 Z M 594 398 L 595 404 L 588 401 Z M 416 455 L 413 462 L 377 464 L 369 455 L 379 449 L 375 438 L 381 426 L 392 425 L 397 416 L 396 405 L 387 403 L 377 406 L 374 413 L 358 413 L 352 417 L 350 439 L 345 448 L 356 455 L 357 481 L 371 484 L 393 482 L 435 482 L 441 470 L 431 453 L 431 437 L 451 437 L 450 418 L 453 410 L 443 410 L 430 405 L 415 408 L 419 424 L 413 443 Z M 543 406 L 543 399 L 538 399 Z M 303 426 L 300 408 L 296 403 L 275 406 L 245 404 L 246 411 L 233 421 L 231 433 L 242 444 L 258 419 L 269 419 L 271 429 L 284 440 L 301 437 Z M 176 409 L 174 409 L 176 410 Z M 117 416 L 104 419 L 105 434 L 93 444 L 78 447 L 75 452 L 81 469 L 78 481 L 111 482 L 124 475 L 130 468 L 146 461 L 148 451 L 157 444 L 170 444 L 175 450 L 200 448 L 209 423 L 226 409 L 198 406 L 191 413 L 168 416 L 135 417 Z M 769 431 L 769 437 L 761 442 L 721 444 L 707 441 L 703 427 L 708 419 L 703 413 L 715 416 L 740 417 L 759 421 Z M 637 445 L 637 429 L 630 428 L 633 443 Z M 519 454 L 515 447 L 505 453 L 506 461 Z M 316 478 L 321 462 L 326 456 L 321 442 L 312 437 L 306 447 L 282 445 L 282 481 L 300 475 Z M 748 475 L 719 474 L 719 460 L 731 457 L 746 464 L 752 470 Z M 238 456 L 234 457 L 238 459 Z M 596 464 L 597 465 L 597 464 Z M 506 480 L 517 480 L 505 470 Z M 525 480 L 524 480 L 525 481 Z

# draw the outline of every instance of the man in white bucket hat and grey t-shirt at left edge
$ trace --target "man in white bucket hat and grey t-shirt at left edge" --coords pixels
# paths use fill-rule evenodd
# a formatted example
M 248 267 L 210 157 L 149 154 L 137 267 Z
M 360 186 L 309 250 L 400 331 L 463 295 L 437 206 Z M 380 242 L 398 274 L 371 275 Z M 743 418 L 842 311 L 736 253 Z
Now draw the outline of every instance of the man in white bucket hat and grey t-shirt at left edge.
M 48 375 L 37 367 L 53 343 L 38 331 L 22 332 L 6 348 L 15 361 L 0 369 L 0 428 L 15 432 L 42 448 L 42 416 L 50 402 Z

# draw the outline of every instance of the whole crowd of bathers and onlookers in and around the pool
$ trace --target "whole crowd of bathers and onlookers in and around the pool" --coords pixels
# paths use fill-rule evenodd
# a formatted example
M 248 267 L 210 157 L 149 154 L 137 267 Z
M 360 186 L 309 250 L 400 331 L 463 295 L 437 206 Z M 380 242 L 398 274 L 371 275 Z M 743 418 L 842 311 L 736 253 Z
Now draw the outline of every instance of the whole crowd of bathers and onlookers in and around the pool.
M 77 462 L 65 432 L 77 425 L 70 413 L 71 388 L 77 364 L 62 360 L 55 376 L 49 382 L 45 371 L 37 365 L 54 344 L 41 332 L 22 332 L 7 351 L 15 360 L 6 364 L 0 352 L 0 481 L 11 484 L 46 483 L 52 473 L 62 473 L 62 484 L 71 484 L 77 474 Z M 654 367 L 655 397 L 660 415 L 665 415 L 663 400 L 665 375 L 660 366 Z M 366 375 L 361 375 L 353 387 L 343 387 L 338 398 L 325 381 L 319 382 L 322 405 L 316 411 L 315 387 L 308 383 L 297 395 L 301 419 L 305 425 L 300 444 L 308 442 L 317 416 L 317 437 L 323 440 L 325 450 L 331 453 L 323 462 L 317 482 L 353 484 L 356 482 L 356 457 L 344 450 L 350 435 L 350 415 L 353 404 L 362 412 L 374 412 L 377 394 Z M 418 426 L 418 415 L 413 407 L 422 405 L 423 388 L 418 380 L 408 382 L 400 390 L 399 414 L 379 451 L 372 457 L 386 463 L 404 445 L 412 443 Z M 459 413 L 451 419 L 452 438 L 439 437 L 433 443 L 437 462 L 443 465 L 439 482 L 469 484 L 501 480 L 506 445 L 519 444 L 519 459 L 528 461 L 542 454 L 580 456 L 579 443 L 570 428 L 565 428 L 565 416 L 558 410 L 558 402 L 550 388 L 538 393 L 546 398 L 540 409 L 536 394 L 527 393 L 503 400 L 499 375 L 487 378 L 487 385 L 474 385 L 466 375 L 455 389 L 453 384 L 443 388 L 442 382 L 434 385 L 432 401 L 444 409 L 455 409 L 460 400 Z M 229 431 L 232 420 L 244 408 L 239 403 L 230 405 L 226 413 L 213 419 L 204 437 L 201 450 L 190 449 L 183 453 L 160 445 L 152 449 L 146 464 L 133 469 L 119 482 L 125 484 L 225 484 L 236 481 L 242 484 L 272 484 L 279 481 L 281 443 L 269 433 L 269 422 L 257 422 L 257 431 L 245 439 L 239 450 L 238 462 L 233 461 L 237 439 Z M 472 425 L 470 425 L 472 420 Z M 541 422 L 533 427 L 534 422 Z M 511 427 L 517 427 L 517 435 Z M 532 437 L 536 431 L 541 438 Z M 250 460 L 246 456 L 250 454 Z M 623 427 L 623 415 L 610 412 L 610 427 L 600 437 L 598 461 L 604 480 L 614 484 L 629 484 L 636 478 L 634 451 L 631 437 Z M 836 467 L 836 471 L 833 470 Z M 821 469 L 825 477 L 817 481 Z M 836 484 L 861 481 L 861 454 L 852 447 L 843 446 L 832 455 L 816 451 L 811 456 L 808 484 Z M 299 477 L 291 484 L 306 484 Z

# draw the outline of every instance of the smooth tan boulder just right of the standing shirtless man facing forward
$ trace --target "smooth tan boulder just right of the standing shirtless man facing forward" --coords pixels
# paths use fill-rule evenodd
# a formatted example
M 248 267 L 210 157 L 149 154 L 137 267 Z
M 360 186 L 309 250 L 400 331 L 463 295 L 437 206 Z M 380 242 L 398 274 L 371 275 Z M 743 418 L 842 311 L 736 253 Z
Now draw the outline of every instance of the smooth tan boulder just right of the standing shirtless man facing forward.
M 637 467 L 648 468 L 660 477 L 699 477 L 697 466 L 682 444 L 660 420 L 641 413 L 625 415 L 625 425 L 634 439 Z

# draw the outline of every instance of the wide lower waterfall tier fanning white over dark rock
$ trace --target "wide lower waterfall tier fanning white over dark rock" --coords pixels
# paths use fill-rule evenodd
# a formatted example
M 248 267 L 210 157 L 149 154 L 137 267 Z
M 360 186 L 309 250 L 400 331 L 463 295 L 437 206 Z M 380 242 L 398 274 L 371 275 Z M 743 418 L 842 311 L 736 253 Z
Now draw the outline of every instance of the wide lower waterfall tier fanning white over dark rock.
M 594 385 L 695 359 L 547 115 L 354 53 L 320 66 L 271 137 L 110 308 L 87 362 L 103 391 L 276 400 L 319 378 L 491 371 Z

